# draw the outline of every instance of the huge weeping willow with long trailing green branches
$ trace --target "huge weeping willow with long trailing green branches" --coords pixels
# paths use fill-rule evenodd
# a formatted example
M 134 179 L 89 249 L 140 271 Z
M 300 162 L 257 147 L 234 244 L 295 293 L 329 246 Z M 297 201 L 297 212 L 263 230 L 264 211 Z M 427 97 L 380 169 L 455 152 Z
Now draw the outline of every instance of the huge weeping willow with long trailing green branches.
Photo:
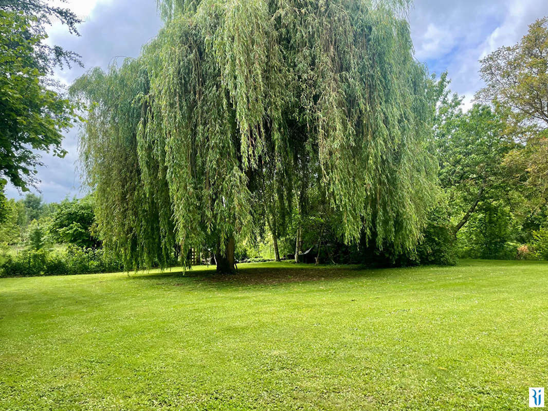
M 306 179 L 346 242 L 413 248 L 436 170 L 407 7 L 160 1 L 165 25 L 139 59 L 72 87 L 89 101 L 81 157 L 105 246 L 133 266 L 207 247 L 230 272 L 235 243 L 264 226 L 264 193 L 288 215 Z

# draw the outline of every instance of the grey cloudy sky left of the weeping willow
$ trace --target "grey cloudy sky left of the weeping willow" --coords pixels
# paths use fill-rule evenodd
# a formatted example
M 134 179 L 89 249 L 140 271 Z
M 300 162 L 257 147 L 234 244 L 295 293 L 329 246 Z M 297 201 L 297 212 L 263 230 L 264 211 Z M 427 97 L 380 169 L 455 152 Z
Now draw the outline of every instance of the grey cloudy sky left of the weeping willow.
M 161 21 L 156 12 L 155 0 L 100 1 L 79 26 L 81 36 L 73 36 L 65 27 L 49 30 L 48 42 L 73 50 L 82 56 L 84 68 L 73 66 L 56 71 L 56 76 L 67 85 L 92 67 L 106 69 L 125 57 L 137 57 L 143 44 L 150 41 Z M 44 167 L 38 169 L 39 193 L 44 201 L 60 201 L 65 197 L 82 196 L 80 175 L 77 170 L 78 127 L 65 134 L 65 158 L 42 154 Z M 33 190 L 34 191 L 34 190 Z M 6 195 L 18 198 L 21 193 L 13 186 L 6 187 Z

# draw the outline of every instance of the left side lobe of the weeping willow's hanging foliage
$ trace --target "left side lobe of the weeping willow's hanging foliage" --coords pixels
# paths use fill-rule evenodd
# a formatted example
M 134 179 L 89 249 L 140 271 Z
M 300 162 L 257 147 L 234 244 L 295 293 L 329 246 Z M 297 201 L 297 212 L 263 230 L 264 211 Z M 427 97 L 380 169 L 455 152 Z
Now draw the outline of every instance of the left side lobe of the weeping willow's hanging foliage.
M 109 73 L 95 68 L 71 88 L 73 94 L 85 90 L 93 102 L 80 144 L 83 171 L 98 198 L 95 214 L 104 246 L 128 269 L 165 265 L 175 244 L 165 167 L 139 157 L 142 107 L 134 99 L 147 88 L 139 61 L 126 61 Z M 143 184 L 147 173 L 157 175 L 153 193 Z

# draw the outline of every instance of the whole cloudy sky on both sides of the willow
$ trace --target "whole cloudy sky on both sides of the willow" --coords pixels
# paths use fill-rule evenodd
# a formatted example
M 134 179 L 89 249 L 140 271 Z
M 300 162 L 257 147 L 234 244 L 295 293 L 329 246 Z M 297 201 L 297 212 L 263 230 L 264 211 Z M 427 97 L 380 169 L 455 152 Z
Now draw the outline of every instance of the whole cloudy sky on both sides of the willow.
M 82 56 L 84 68 L 58 70 L 56 76 L 70 85 L 92 67 L 108 67 L 125 57 L 137 57 L 141 46 L 158 32 L 161 21 L 156 0 L 67 0 L 60 3 L 75 12 L 83 23 L 81 36 L 68 33 L 54 22 L 48 42 L 73 50 Z M 527 26 L 548 15 L 547 0 L 415 0 L 409 12 L 409 24 L 415 56 L 425 62 L 431 73 L 448 71 L 450 88 L 463 95 L 465 107 L 482 88 L 479 59 L 503 45 L 512 45 L 526 34 Z M 78 170 L 78 133 L 72 128 L 65 134 L 65 158 L 43 153 L 38 169 L 41 182 L 31 190 L 46 202 L 82 197 Z M 13 186 L 6 187 L 8 198 L 19 198 Z

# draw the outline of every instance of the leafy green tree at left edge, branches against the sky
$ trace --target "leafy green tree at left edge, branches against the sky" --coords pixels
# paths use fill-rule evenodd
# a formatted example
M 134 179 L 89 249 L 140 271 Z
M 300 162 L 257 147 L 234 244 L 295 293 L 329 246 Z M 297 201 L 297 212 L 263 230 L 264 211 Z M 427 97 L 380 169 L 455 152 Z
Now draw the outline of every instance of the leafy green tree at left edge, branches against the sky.
M 36 49 L 45 36 L 33 32 L 36 21 L 0 8 L 0 182 L 24 191 L 41 164 L 35 151 L 63 157 L 61 131 L 75 119 L 71 102 L 44 85 Z

